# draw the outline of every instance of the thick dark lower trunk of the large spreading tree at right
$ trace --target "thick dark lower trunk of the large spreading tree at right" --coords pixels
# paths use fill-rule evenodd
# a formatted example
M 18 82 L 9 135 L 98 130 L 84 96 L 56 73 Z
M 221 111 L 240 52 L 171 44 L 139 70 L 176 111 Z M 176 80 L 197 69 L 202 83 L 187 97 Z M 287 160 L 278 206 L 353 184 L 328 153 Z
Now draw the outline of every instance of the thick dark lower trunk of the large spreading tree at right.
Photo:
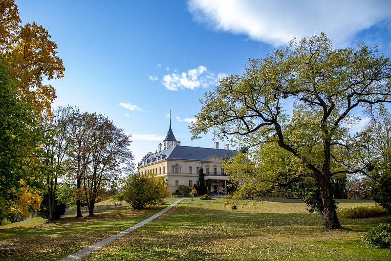
M 325 220 L 324 227 L 326 229 L 340 228 L 341 224 L 339 223 L 333 199 L 331 197 L 330 183 L 327 180 L 322 180 L 321 182 L 321 196 L 324 211 L 323 218 Z

